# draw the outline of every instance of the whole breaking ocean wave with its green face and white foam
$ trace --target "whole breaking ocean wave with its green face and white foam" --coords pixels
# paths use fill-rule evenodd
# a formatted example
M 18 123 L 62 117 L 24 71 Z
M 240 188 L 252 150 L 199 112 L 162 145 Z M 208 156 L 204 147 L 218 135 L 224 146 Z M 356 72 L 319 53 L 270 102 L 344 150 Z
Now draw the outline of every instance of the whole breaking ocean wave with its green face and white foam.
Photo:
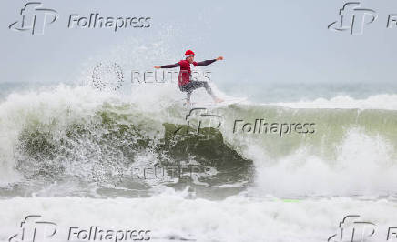
M 203 196 L 221 190 L 226 197 L 244 189 L 280 197 L 395 193 L 393 109 L 249 102 L 218 106 L 205 111 L 219 116 L 221 126 L 204 126 L 209 136 L 200 139 L 197 133 L 186 132 L 197 121 L 187 123 L 191 110 L 178 96 L 169 95 L 178 93 L 175 86 L 154 88 L 153 96 L 135 91 L 122 96 L 90 86 L 60 85 L 7 96 L 0 104 L 2 194 L 17 189 L 13 184 L 19 182 L 31 189 L 27 194 L 46 196 L 43 184 L 51 187 L 65 181 L 76 181 L 77 190 L 90 192 L 93 183 L 151 191 L 190 185 L 204 187 Z M 142 101 L 140 96 L 148 98 Z M 269 126 L 249 132 L 237 126 L 237 120 L 241 125 Z M 305 123 L 314 124 L 313 132 L 297 132 L 297 124 Z M 270 132 L 271 124 L 276 124 L 276 131 Z M 176 135 L 177 130 L 181 132 Z M 131 181 L 134 168 L 173 165 L 197 166 L 199 172 L 167 183 Z M 120 195 L 116 188 L 105 190 L 106 196 Z M 65 193 L 74 196 L 78 191 L 71 188 Z

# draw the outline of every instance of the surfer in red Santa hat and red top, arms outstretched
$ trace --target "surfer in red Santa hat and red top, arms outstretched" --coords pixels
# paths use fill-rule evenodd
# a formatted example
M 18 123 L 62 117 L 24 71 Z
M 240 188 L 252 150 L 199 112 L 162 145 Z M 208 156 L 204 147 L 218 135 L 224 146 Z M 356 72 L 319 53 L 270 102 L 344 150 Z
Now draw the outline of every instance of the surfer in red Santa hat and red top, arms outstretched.
M 223 60 L 223 57 L 219 56 L 216 59 L 195 62 L 194 61 L 194 52 L 191 50 L 187 50 L 185 52 L 184 60 L 181 60 L 176 64 L 165 65 L 165 66 L 153 66 L 153 67 L 155 67 L 156 69 L 180 67 L 180 71 L 179 71 L 179 75 L 178 75 L 178 86 L 179 86 L 180 91 L 186 92 L 188 94 L 188 96 L 186 98 L 187 104 L 190 104 L 191 93 L 199 87 L 206 88 L 207 93 L 209 93 L 209 95 L 212 97 L 212 99 L 214 99 L 214 102 L 220 103 L 220 102 L 223 102 L 223 100 L 213 94 L 211 87 L 209 87 L 209 84 L 207 82 L 194 81 L 194 80 L 190 79 L 191 78 L 191 71 L 190 71 L 191 64 L 193 64 L 193 66 L 208 66 L 209 64 L 212 64 L 219 60 Z

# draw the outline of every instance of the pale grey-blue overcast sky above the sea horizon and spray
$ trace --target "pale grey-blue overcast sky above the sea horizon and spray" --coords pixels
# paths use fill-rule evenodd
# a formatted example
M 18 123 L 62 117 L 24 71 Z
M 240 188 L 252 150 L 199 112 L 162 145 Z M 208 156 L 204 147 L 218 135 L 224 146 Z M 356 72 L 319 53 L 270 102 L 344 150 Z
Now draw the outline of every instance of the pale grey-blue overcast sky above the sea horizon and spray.
M 210 69 L 223 82 L 395 81 L 397 26 L 386 27 L 388 15 L 397 14 L 395 0 L 361 1 L 378 15 L 363 35 L 327 28 L 340 19 L 339 0 L 43 0 L 59 14 L 44 35 L 8 28 L 26 3 L 5 0 L 0 8 L 0 82 L 74 82 L 101 58 L 150 68 L 178 61 L 187 48 L 198 60 L 224 55 Z M 148 16 L 150 27 L 67 28 L 69 15 L 91 13 Z

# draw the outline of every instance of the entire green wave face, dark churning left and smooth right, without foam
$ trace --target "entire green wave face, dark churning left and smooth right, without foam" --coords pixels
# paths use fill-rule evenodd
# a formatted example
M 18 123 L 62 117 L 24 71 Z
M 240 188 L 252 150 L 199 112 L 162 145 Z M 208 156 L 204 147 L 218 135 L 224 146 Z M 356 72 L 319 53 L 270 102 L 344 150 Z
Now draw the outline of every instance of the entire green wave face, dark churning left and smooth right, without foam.
M 381 137 L 396 156 L 396 111 L 232 105 L 187 120 L 190 111 L 174 105 L 153 114 L 104 104 L 67 125 L 59 118 L 32 119 L 18 135 L 16 169 L 28 181 L 96 184 L 107 196 L 108 186 L 148 190 L 160 184 L 235 187 L 231 193 L 237 193 L 258 176 L 254 164 L 277 165 L 302 148 L 332 166 L 352 130 Z M 266 156 L 250 156 L 252 146 Z

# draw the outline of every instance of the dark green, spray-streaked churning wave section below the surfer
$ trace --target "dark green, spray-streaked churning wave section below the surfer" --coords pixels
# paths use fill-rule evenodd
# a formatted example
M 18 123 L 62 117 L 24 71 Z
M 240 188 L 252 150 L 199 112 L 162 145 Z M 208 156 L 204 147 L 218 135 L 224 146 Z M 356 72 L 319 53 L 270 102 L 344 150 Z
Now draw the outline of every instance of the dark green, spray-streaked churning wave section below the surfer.
M 161 123 L 138 113 L 133 106 L 103 106 L 89 119 L 59 129 L 50 124 L 29 123 L 18 137 L 17 169 L 29 179 L 77 178 L 85 183 L 122 185 L 143 179 L 143 168 L 163 173 L 174 169 L 168 179 L 179 183 L 199 174 L 207 186 L 249 181 L 252 161 L 240 156 L 218 129 L 211 137 L 198 139 L 195 133 L 174 134 L 187 125 Z M 184 120 L 182 120 L 184 121 Z M 178 174 L 176 174 L 178 173 Z

